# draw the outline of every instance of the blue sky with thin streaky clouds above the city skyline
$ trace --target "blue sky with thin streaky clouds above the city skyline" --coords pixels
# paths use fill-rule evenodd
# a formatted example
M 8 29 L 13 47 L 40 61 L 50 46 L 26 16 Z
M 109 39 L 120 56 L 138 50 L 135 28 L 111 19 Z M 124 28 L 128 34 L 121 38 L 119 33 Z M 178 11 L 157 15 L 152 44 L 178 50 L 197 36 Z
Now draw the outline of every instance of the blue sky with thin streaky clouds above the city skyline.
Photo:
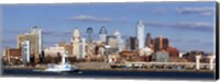
M 3 4 L 3 48 L 16 48 L 19 34 L 40 26 L 43 47 L 61 40 L 70 42 L 75 28 L 86 37 L 86 28 L 94 28 L 98 39 L 101 26 L 108 35 L 114 31 L 122 38 L 135 36 L 139 20 L 145 23 L 145 34 L 162 35 L 180 51 L 216 49 L 215 2 L 136 2 L 136 3 L 65 3 L 65 4 Z

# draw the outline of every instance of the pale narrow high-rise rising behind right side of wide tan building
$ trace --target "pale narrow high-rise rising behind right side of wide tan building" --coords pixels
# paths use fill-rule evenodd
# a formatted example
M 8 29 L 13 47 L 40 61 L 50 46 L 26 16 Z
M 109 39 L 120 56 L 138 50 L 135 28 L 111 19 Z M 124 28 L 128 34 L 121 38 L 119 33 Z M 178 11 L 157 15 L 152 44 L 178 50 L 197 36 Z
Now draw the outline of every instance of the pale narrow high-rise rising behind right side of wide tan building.
M 42 51 L 42 30 L 38 26 L 33 26 L 31 30 L 31 34 L 38 35 L 38 54 Z

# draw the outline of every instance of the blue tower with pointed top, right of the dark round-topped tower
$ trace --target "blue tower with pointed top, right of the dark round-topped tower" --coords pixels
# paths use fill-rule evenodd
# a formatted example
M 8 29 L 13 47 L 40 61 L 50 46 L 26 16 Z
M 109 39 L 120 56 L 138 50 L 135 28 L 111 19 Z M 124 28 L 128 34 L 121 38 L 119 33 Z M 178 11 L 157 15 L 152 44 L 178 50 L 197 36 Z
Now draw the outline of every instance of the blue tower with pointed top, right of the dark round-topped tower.
M 106 43 L 107 39 L 107 30 L 105 26 L 102 26 L 99 31 L 99 40 L 105 42 Z

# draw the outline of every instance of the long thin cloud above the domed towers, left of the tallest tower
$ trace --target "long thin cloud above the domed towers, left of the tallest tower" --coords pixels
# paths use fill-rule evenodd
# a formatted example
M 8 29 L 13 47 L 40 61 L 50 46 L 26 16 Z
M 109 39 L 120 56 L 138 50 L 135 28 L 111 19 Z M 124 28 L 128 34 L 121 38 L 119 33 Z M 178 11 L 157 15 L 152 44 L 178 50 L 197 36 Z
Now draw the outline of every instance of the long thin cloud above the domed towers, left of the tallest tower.
M 99 17 L 99 16 L 84 15 L 84 14 L 67 17 L 67 20 L 82 21 L 82 22 L 112 22 L 112 19 L 109 17 Z

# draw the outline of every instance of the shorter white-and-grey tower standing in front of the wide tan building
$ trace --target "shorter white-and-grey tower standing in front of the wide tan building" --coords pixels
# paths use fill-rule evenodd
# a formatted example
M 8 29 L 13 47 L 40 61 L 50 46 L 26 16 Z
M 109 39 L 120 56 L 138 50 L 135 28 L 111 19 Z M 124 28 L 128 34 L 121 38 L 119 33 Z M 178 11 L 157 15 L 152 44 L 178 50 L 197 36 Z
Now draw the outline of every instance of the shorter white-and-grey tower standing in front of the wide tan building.
M 21 54 L 22 54 L 22 61 L 23 63 L 29 63 L 31 59 L 31 52 L 30 52 L 30 42 L 24 40 L 21 43 Z

